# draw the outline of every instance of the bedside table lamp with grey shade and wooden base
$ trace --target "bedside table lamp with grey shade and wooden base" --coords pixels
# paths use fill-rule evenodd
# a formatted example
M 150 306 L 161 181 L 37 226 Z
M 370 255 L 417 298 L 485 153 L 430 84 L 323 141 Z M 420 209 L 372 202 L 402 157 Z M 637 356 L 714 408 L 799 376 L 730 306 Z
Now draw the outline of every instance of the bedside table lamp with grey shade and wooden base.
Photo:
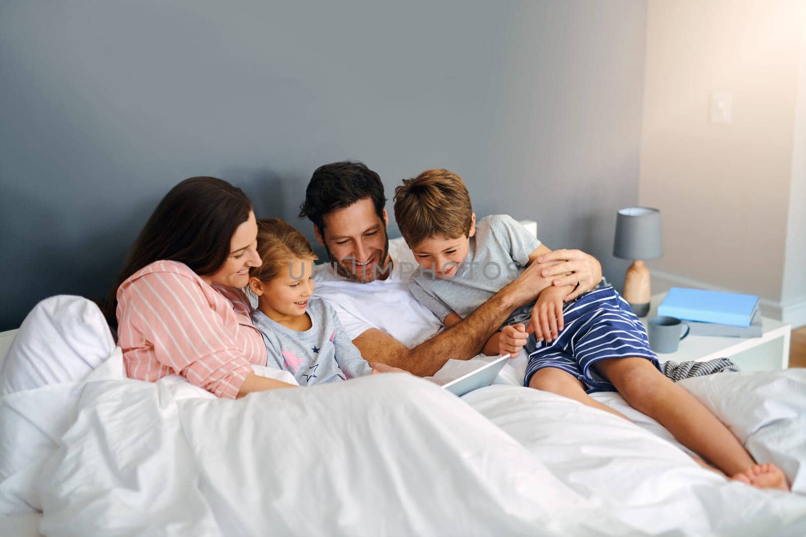
M 643 260 L 663 257 L 660 211 L 648 207 L 619 209 L 613 255 L 633 260 L 624 277 L 624 291 L 621 296 L 633 308 L 635 315 L 646 316 L 650 312 L 652 292 L 650 270 Z

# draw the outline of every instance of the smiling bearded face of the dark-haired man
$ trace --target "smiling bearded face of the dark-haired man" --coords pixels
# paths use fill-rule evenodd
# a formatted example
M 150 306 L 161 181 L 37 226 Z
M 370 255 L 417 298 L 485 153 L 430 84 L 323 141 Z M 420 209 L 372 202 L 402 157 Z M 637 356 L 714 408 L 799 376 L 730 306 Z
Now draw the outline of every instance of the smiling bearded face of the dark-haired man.
M 364 198 L 322 217 L 324 229 L 314 226 L 317 241 L 325 246 L 340 275 L 369 283 L 388 277 L 388 216 L 378 217 L 372 200 Z

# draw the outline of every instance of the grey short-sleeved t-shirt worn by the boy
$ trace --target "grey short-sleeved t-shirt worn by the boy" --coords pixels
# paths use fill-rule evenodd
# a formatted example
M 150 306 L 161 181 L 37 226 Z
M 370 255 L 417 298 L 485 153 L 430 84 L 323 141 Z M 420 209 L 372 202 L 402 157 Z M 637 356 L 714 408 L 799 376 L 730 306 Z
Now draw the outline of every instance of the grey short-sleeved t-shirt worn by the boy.
M 409 291 L 442 322 L 452 312 L 465 319 L 516 279 L 540 244 L 513 217 L 484 217 L 476 222 L 467 258 L 453 278 L 439 279 L 430 271 L 419 271 L 409 283 Z M 504 324 L 528 320 L 533 305 L 517 308 Z

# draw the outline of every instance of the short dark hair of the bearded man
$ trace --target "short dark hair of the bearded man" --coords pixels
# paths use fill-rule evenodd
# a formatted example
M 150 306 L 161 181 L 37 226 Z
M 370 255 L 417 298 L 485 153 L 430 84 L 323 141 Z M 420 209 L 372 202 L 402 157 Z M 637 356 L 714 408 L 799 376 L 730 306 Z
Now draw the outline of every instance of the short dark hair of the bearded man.
M 384 219 L 384 184 L 380 176 L 360 162 L 334 162 L 320 166 L 305 188 L 300 218 L 308 217 L 319 232 L 325 229 L 323 218 L 359 200 L 372 200 L 378 217 Z

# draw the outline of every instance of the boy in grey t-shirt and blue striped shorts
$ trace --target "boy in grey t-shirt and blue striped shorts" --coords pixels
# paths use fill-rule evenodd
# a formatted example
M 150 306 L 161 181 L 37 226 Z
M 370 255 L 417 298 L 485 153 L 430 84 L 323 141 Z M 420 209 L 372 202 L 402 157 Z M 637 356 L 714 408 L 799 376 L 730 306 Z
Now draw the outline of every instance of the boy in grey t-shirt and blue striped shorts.
M 426 170 L 404 180 L 395 189 L 394 201 L 397 224 L 421 266 L 409 289 L 446 326 L 458 323 L 538 256 L 550 252 L 511 217 L 495 215 L 476 222 L 467 188 L 451 171 Z M 564 304 L 572 290 L 546 287 L 535 304 L 509 316 L 484 353 L 515 356 L 526 347 L 525 386 L 626 419 L 588 395 L 618 391 L 726 476 L 760 488 L 788 490 L 779 469 L 757 465 L 723 423 L 660 372 L 646 330 L 613 287 L 600 284 Z

